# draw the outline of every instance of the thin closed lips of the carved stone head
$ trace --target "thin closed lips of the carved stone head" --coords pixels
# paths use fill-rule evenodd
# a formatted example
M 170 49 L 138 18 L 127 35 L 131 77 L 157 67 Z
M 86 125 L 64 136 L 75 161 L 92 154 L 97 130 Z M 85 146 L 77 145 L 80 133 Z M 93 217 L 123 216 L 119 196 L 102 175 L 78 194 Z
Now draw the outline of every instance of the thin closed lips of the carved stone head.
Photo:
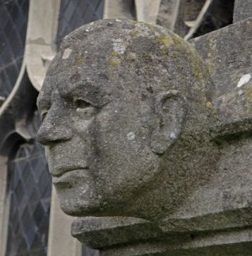
M 71 169 L 68 171 L 65 171 L 60 176 L 53 176 L 52 175 L 52 183 L 58 184 L 58 183 L 65 183 L 68 182 L 71 179 L 76 179 L 79 177 L 87 177 L 89 173 L 89 169 Z

